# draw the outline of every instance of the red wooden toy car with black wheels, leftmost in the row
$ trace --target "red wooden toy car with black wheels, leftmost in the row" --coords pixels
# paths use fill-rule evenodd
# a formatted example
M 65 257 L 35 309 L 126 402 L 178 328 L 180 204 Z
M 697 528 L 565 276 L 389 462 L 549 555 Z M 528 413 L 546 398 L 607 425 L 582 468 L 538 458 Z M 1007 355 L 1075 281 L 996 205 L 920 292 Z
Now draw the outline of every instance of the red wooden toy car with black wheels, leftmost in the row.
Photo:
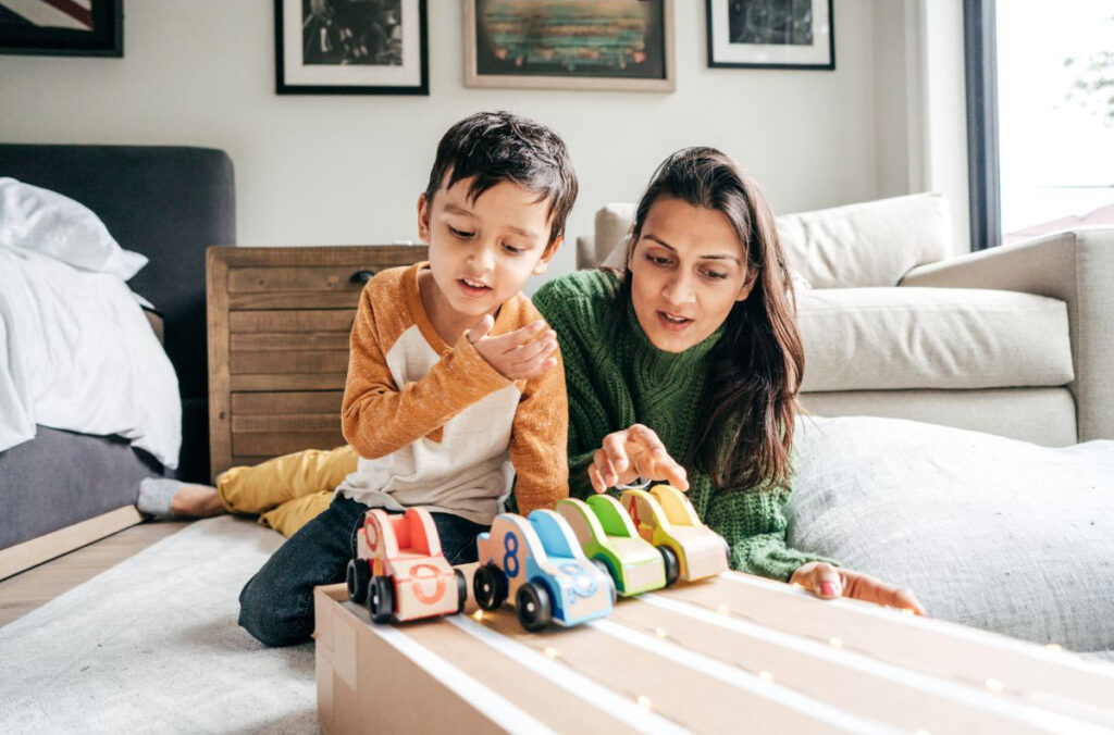
M 468 585 L 441 553 L 441 537 L 424 508 L 402 514 L 373 508 L 356 535 L 348 567 L 349 599 L 375 623 L 416 620 L 465 609 Z

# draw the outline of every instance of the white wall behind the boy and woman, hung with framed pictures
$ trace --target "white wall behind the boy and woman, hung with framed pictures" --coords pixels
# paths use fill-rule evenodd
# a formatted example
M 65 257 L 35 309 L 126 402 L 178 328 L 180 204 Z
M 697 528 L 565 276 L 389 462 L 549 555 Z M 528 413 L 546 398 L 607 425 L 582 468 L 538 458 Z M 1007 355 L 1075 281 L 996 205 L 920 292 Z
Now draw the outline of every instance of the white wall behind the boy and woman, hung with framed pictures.
M 874 3 L 836 0 L 834 72 L 709 69 L 704 7 L 676 0 L 672 95 L 466 89 L 460 3 L 430 0 L 429 97 L 280 97 L 270 0 L 131 0 L 123 59 L 0 57 L 0 139 L 223 148 L 236 167 L 242 245 L 414 238 L 437 140 L 490 108 L 567 140 L 582 183 L 571 237 L 694 144 L 743 161 L 778 212 L 869 199 L 880 179 L 886 194 L 901 193 L 889 161 L 907 122 L 876 116 Z M 879 120 L 897 126 L 883 161 Z M 563 248 L 549 274 L 570 271 L 574 251 Z

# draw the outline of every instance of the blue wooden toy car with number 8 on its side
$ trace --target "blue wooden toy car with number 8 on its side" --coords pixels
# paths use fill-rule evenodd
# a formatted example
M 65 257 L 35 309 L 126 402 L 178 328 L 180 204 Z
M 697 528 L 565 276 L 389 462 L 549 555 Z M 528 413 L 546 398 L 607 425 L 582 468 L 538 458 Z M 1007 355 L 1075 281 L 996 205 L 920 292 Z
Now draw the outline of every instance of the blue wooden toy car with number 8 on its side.
M 551 510 L 496 517 L 480 533 L 480 566 L 472 578 L 476 602 L 494 610 L 515 598 L 518 621 L 530 631 L 550 621 L 573 626 L 612 611 L 615 584 L 588 560 L 573 529 Z

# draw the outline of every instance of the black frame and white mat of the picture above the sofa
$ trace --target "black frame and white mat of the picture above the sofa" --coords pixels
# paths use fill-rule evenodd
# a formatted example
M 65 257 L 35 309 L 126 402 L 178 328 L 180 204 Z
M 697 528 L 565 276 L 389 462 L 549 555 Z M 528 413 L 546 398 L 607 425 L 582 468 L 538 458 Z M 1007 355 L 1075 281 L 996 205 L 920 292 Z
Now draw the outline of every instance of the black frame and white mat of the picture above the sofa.
M 819 8 L 827 12 L 813 17 L 820 24 L 809 29 L 813 35 L 811 45 L 804 43 L 737 43 L 729 40 L 730 23 L 726 9 L 736 2 L 750 3 L 759 9 L 765 6 L 800 6 L 809 3 L 811 10 Z M 734 10 L 734 9 L 733 9 Z M 705 26 L 707 28 L 707 66 L 713 69 L 797 69 L 812 71 L 836 70 L 836 16 L 832 0 L 705 0 Z M 817 38 L 819 36 L 820 38 Z M 737 46 L 736 46 L 737 43 Z

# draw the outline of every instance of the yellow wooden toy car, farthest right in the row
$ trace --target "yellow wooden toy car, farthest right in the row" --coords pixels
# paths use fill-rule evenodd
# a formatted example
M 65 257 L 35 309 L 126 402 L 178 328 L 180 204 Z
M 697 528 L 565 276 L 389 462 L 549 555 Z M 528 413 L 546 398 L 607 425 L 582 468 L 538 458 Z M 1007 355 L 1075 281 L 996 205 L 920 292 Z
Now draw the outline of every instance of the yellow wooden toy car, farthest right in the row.
M 673 549 L 682 579 L 692 581 L 727 570 L 727 542 L 701 522 L 688 498 L 676 488 L 658 484 L 648 491 L 624 490 L 620 502 L 642 538 Z

